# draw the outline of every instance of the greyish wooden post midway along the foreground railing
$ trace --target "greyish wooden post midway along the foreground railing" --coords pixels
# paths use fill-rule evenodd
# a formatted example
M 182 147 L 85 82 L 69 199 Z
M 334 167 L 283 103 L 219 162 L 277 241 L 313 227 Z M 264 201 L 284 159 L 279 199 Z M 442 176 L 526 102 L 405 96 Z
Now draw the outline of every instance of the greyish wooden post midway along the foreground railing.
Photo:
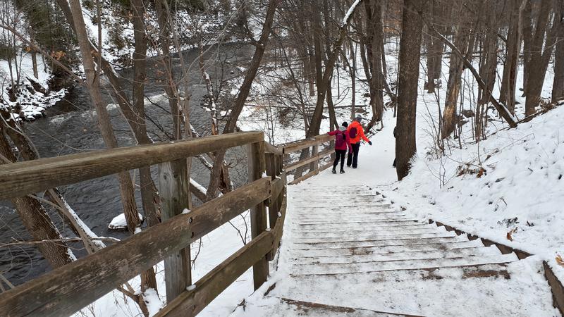
M 159 164 L 159 194 L 163 222 L 191 207 L 189 186 L 186 159 Z M 164 259 L 164 279 L 166 302 L 171 302 L 192 284 L 190 245 Z

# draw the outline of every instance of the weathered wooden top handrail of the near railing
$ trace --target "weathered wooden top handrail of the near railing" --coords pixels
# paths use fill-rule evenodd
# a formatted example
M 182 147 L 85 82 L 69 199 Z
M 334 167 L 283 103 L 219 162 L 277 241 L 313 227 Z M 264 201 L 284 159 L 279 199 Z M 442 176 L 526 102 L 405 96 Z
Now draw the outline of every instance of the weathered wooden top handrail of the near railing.
M 239 132 L 178 142 L 120 147 L 0 166 L 0 200 L 262 141 L 263 132 Z

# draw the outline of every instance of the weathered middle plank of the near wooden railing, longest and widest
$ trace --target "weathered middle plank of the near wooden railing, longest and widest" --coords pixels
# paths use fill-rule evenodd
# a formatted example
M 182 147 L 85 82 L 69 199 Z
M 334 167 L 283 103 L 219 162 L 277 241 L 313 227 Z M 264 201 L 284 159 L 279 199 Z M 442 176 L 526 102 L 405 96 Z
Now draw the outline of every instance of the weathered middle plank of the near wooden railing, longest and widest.
M 68 316 L 270 197 L 262 178 L 0 294 L 8 316 Z M 87 292 L 85 292 L 87 290 Z

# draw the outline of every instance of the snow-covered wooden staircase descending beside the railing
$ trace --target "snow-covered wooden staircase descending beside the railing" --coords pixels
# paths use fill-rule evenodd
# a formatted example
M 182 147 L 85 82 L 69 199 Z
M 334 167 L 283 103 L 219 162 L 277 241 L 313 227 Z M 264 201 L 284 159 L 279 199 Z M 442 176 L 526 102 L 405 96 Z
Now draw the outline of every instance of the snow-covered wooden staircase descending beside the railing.
M 347 171 L 288 187 L 278 271 L 232 316 L 558 316 L 537 261 L 417 220 Z

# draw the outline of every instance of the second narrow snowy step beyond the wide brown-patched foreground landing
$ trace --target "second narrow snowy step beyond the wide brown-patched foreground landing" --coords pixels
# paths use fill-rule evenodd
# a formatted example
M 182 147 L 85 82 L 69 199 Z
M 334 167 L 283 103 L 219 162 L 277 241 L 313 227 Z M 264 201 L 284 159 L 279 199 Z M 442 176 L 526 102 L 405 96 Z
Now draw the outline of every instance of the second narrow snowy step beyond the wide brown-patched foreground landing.
M 291 256 L 309 258 L 323 256 L 351 256 L 362 254 L 391 254 L 396 252 L 410 251 L 440 251 L 462 248 L 484 247 L 481 240 L 462 242 L 441 242 L 429 244 L 402 244 L 377 247 L 351 247 L 335 249 L 293 249 Z

